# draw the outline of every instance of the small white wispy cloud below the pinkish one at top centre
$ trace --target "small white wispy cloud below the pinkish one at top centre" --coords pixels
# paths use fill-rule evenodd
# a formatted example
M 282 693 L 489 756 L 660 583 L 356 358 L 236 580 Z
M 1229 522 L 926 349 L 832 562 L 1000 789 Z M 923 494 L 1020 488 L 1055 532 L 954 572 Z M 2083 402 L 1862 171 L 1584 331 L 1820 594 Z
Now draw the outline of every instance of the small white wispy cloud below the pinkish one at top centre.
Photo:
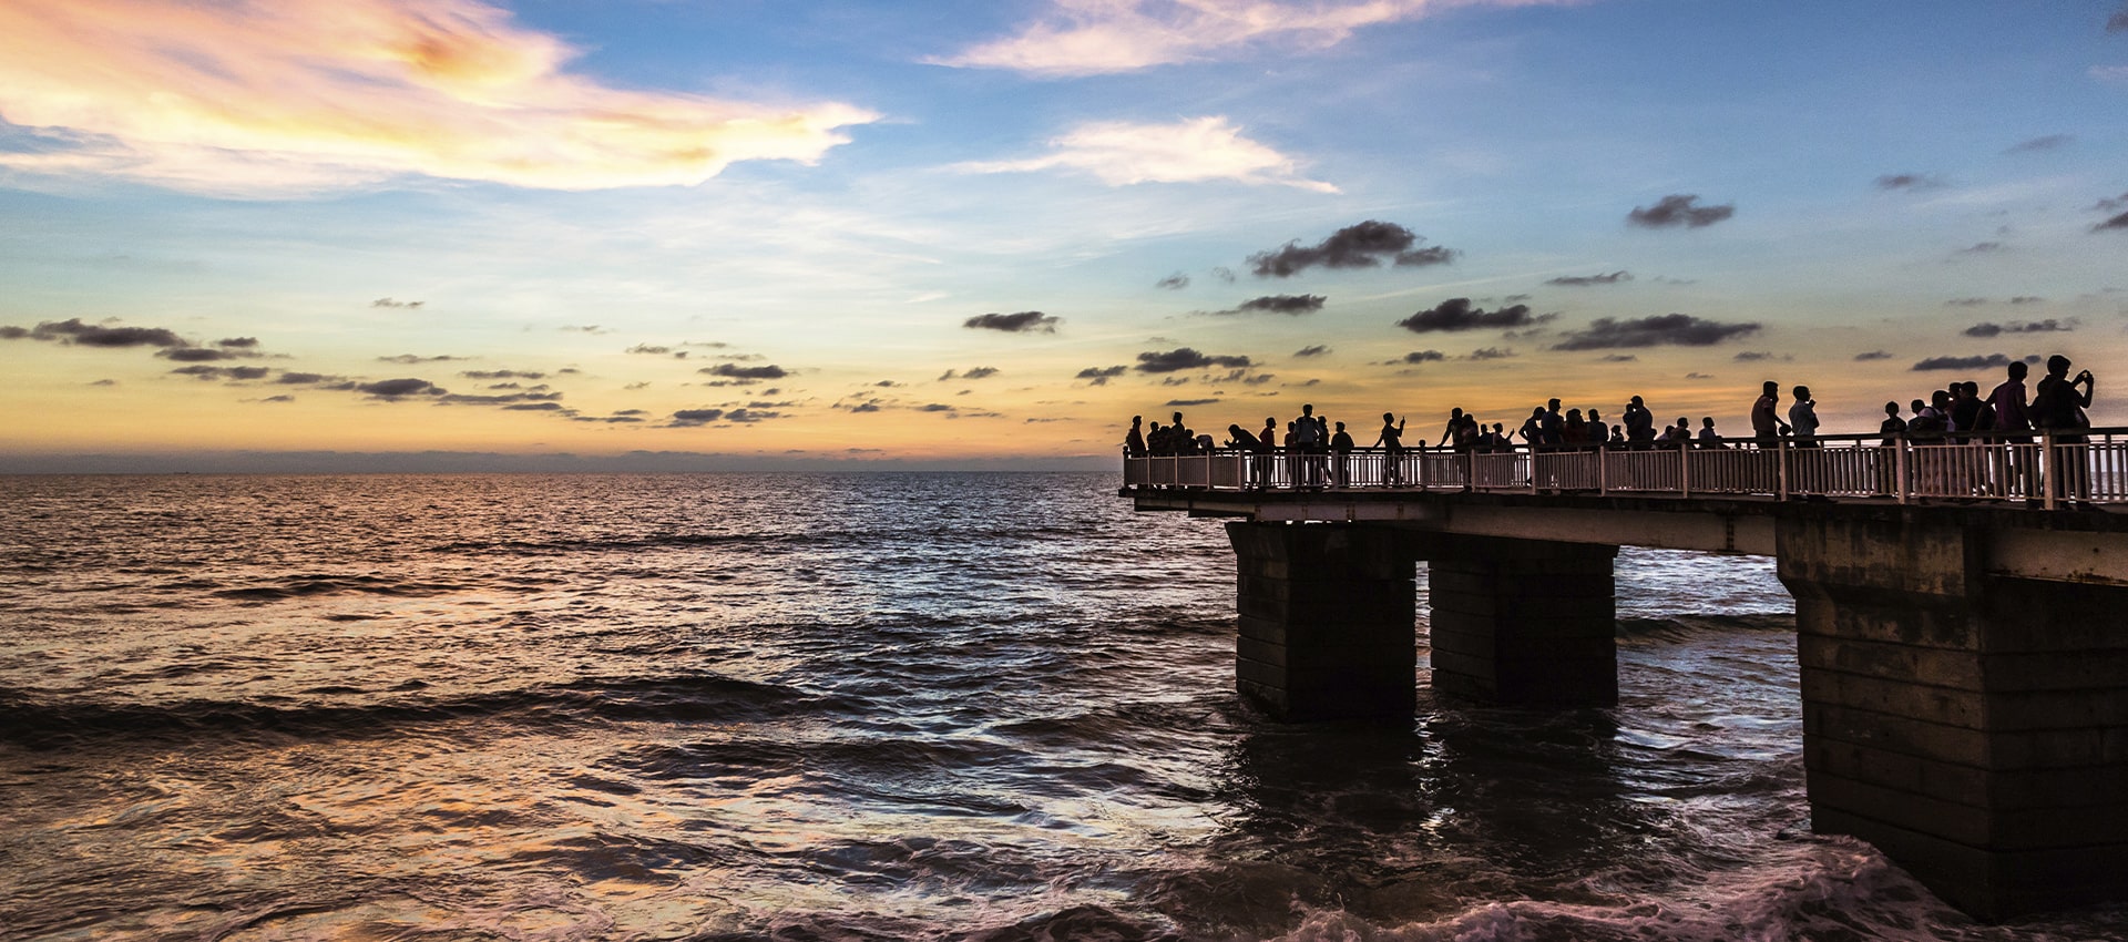
M 955 170 L 998 174 L 1079 170 L 1111 187 L 1132 183 L 1234 181 L 1336 194 L 1300 174 L 1300 162 L 1241 136 L 1221 115 L 1177 123 L 1096 121 L 1049 140 L 1051 153 L 1028 159 L 955 164 Z

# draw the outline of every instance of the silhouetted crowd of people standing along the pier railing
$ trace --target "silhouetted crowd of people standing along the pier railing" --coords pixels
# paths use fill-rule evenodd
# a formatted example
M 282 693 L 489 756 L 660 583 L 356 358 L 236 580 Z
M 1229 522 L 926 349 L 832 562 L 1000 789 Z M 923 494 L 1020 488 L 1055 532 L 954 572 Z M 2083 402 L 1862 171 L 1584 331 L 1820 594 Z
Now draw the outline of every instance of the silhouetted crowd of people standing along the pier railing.
M 2058 493 L 2068 500 L 2083 500 L 2090 495 L 2090 468 L 2081 451 L 2075 449 L 2088 444 L 2083 430 L 2090 430 L 2085 410 L 2092 404 L 2094 379 L 2090 370 L 2071 376 L 2071 359 L 2064 355 L 2049 357 L 2047 374 L 2028 389 L 2026 379 L 2030 376 L 2030 368 L 2024 361 L 2013 361 L 2002 383 L 1988 391 L 1988 396 L 1981 396 L 1975 381 L 1951 383 L 1945 389 L 1932 391 L 1926 400 L 1913 400 L 1911 417 L 1900 415 L 1898 402 L 1885 402 L 1879 444 L 1896 447 L 1900 440 L 1917 444 L 2030 444 L 2034 432 L 2045 432 L 2062 447 L 2056 451 L 2066 451 L 2066 455 L 2049 457 L 2049 474 L 2060 474 Z M 1432 449 L 1511 453 L 1517 449 L 1645 451 L 1773 449 L 1781 444 L 1819 449 L 1824 444 L 1817 432 L 1817 400 L 1807 385 L 1792 387 L 1788 406 L 1781 408 L 1781 385 L 1766 381 L 1749 415 L 1751 436 L 1730 442 L 1715 430 L 1713 417 L 1700 417 L 1698 430 L 1694 430 L 1690 417 L 1679 417 L 1658 432 L 1658 419 L 1641 396 L 1632 396 L 1619 408 L 1617 423 L 1605 419 L 1596 408 L 1562 410 L 1560 400 L 1553 398 L 1543 406 L 1534 406 L 1530 417 L 1515 430 L 1507 430 L 1498 421 L 1485 425 L 1477 415 L 1456 406 L 1449 410 L 1441 440 Z M 1281 461 L 1283 481 L 1292 487 L 1343 487 L 1349 481 L 1351 455 L 1362 451 L 1362 444 L 1345 430 L 1343 421 L 1332 423 L 1317 415 L 1313 404 L 1307 404 L 1300 406 L 1298 417 L 1283 425 L 1283 438 L 1279 419 L 1275 417 L 1264 419 L 1264 425 L 1256 432 L 1228 425 L 1226 440 L 1219 442 L 1211 434 L 1200 434 L 1185 425 L 1183 413 L 1175 413 L 1168 425 L 1153 421 L 1149 427 L 1143 417 L 1132 417 L 1124 451 L 1130 457 L 1209 455 L 1221 449 L 1228 453 L 1249 453 L 1249 478 L 1258 487 L 1277 478 Z M 1364 447 L 1383 455 L 1381 483 L 1390 487 L 1404 483 L 1404 419 L 1383 413 L 1381 432 L 1373 444 Z M 1417 447 L 1428 447 L 1424 436 Z M 1990 451 L 1992 468 L 1979 474 L 1981 481 L 1973 487 L 1994 493 L 2032 493 L 2032 483 L 2039 481 L 2034 449 L 1998 447 Z M 1885 474 L 1885 470 L 1879 474 Z

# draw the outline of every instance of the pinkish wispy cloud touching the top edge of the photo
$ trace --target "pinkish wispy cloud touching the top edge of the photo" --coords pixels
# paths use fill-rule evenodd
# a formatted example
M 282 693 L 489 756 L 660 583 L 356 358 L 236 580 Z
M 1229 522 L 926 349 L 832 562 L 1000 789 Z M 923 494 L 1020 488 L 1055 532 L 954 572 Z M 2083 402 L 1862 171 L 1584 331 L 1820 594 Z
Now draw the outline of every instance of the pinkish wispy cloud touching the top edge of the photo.
M 1547 0 L 1490 0 L 1528 6 Z M 1045 77 L 1132 72 L 1177 62 L 1213 60 L 1251 45 L 1326 49 L 1356 30 L 1417 19 L 1439 0 L 1055 0 L 1049 15 L 1017 36 L 983 43 L 941 66 L 1011 68 Z

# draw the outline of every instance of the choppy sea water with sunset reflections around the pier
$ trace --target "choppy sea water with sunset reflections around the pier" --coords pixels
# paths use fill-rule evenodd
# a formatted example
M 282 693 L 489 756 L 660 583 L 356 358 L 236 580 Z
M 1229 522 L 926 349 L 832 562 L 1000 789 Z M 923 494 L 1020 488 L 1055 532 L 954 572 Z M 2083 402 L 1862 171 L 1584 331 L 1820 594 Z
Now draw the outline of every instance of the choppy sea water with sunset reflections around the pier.
M 1219 525 L 1109 476 L 0 508 L 11 940 L 2128 936 L 1809 834 L 1764 559 L 1619 557 L 1615 710 L 1290 727 L 1232 693 Z

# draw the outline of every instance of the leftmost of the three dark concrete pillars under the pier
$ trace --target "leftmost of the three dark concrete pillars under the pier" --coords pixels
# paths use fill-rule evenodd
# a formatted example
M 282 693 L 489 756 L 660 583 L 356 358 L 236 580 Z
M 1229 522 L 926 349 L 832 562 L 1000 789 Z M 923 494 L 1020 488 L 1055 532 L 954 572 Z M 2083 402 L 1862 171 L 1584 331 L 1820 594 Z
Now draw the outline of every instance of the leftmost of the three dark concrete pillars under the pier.
M 1415 563 L 1396 529 L 1228 523 L 1241 638 L 1234 687 L 1273 717 L 1411 719 Z

